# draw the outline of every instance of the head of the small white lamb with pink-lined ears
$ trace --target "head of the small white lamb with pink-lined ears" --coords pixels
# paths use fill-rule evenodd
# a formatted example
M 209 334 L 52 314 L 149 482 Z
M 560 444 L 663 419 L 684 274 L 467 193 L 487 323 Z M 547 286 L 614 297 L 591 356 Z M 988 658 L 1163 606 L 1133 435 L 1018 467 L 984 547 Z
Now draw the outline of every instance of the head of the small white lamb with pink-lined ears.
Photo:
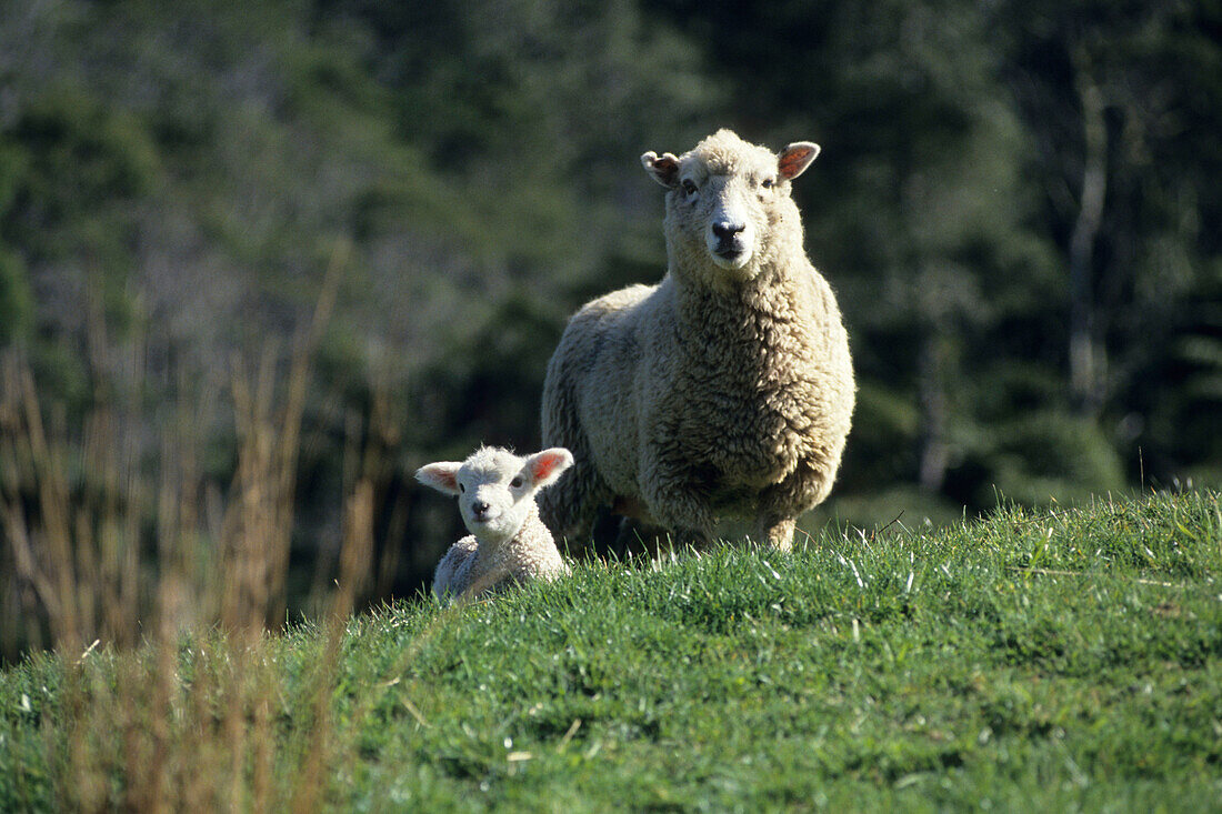
M 458 497 L 467 529 L 484 541 L 505 541 L 518 533 L 534 508 L 535 493 L 555 483 L 573 464 L 573 455 L 554 447 L 525 457 L 500 447 L 480 447 L 462 461 L 420 467 L 415 479 Z

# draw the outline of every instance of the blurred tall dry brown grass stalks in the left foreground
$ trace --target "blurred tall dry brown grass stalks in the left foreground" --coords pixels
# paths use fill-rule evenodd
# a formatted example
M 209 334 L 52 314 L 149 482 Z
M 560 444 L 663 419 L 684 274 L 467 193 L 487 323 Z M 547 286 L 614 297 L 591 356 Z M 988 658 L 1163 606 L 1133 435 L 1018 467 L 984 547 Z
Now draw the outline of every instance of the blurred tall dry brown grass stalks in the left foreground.
M 304 710 L 286 706 L 302 684 L 290 691 L 269 629 L 285 621 L 310 359 L 345 262 L 337 251 L 287 375 L 271 353 L 233 363 L 227 489 L 202 475 L 198 403 L 170 411 L 149 466 L 138 397 L 99 386 L 73 433 L 18 356 L 0 363 L 0 556 L 11 567 L 0 634 L 59 660 L 44 737 L 62 808 L 309 812 L 326 801 L 345 749 L 330 695 L 346 620 L 370 578 L 382 462 L 367 455 L 347 478 Z M 143 369 L 141 343 L 116 359 L 100 320 L 89 345 L 95 369 Z

